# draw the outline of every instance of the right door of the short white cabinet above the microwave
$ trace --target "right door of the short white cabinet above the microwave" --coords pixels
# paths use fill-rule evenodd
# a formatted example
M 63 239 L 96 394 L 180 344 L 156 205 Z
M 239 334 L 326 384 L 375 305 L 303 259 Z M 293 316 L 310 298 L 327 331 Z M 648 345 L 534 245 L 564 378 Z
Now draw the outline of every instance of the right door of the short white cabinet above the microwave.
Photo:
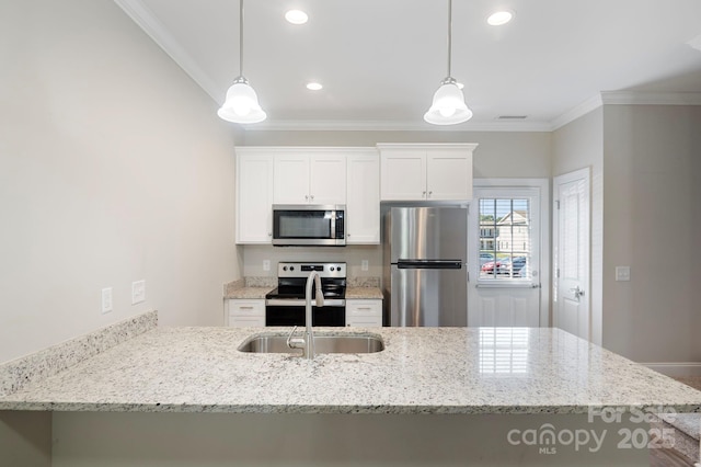
M 313 153 L 309 162 L 309 202 L 346 204 L 346 157 L 343 153 Z

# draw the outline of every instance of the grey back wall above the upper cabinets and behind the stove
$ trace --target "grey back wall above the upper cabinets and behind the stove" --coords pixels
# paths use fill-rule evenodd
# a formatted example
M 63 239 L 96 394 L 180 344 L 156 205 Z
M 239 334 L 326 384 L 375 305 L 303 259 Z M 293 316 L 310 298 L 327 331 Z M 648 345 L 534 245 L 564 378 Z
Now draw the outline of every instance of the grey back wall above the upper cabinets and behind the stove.
M 478 143 L 473 155 L 474 178 L 551 176 L 551 134 L 526 132 L 245 132 L 242 146 L 365 146 L 378 143 Z M 346 261 L 349 276 L 381 276 L 380 247 L 353 246 L 345 249 L 243 247 L 243 273 L 246 276 L 276 275 L 278 261 Z M 273 271 L 264 272 L 263 260 Z M 369 261 L 369 271 L 360 271 L 360 261 Z

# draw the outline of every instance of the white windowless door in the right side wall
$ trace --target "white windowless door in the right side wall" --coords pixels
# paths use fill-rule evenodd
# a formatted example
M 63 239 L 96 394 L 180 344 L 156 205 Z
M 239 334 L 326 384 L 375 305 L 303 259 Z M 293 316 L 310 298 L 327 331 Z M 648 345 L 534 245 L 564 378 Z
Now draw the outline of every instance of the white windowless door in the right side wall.
M 553 326 L 589 340 L 589 169 L 554 180 Z

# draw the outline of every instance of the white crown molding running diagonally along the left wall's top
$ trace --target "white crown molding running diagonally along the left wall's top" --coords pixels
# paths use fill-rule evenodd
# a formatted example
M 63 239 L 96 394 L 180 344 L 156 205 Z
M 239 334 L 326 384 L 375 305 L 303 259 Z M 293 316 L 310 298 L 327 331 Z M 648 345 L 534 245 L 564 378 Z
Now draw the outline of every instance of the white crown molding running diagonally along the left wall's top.
M 219 102 L 217 87 L 209 76 L 197 66 L 180 42 L 156 18 L 153 12 L 140 0 L 114 0 L 114 2 L 141 30 L 158 44 L 215 102 Z

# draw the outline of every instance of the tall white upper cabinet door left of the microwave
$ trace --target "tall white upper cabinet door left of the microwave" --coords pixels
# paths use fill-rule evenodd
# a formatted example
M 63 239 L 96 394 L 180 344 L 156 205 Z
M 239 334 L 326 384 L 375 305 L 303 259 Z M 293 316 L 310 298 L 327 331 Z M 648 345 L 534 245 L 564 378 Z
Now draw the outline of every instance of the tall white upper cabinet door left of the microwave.
M 273 155 L 237 152 L 237 243 L 269 243 Z

